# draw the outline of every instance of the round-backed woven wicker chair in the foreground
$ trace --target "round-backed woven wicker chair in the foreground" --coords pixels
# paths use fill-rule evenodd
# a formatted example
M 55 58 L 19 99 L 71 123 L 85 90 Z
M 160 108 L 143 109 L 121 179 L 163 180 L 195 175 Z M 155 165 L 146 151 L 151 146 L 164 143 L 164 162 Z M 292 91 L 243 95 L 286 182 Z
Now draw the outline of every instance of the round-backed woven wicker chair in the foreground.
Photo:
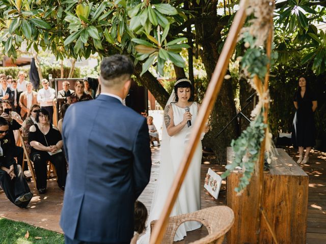
M 208 235 L 191 242 L 192 244 L 220 244 L 223 242 L 224 235 L 234 223 L 234 214 L 232 209 L 227 206 L 215 206 L 189 214 L 170 217 L 167 231 L 161 243 L 172 244 L 178 227 L 186 221 L 198 221 L 208 230 Z M 156 222 L 157 220 L 151 222 L 151 230 L 153 230 Z

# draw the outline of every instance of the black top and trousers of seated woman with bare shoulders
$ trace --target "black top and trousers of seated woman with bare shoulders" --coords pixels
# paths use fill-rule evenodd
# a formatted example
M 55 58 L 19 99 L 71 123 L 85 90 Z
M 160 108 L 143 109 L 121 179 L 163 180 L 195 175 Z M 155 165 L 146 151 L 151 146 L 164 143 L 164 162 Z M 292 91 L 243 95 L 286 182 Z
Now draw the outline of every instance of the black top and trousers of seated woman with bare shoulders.
M 60 131 L 53 129 L 50 124 L 50 130 L 46 135 L 44 135 L 37 124 L 35 125 L 36 131 L 30 132 L 29 143 L 31 141 L 37 141 L 44 146 L 56 145 L 58 141 L 62 140 Z M 46 138 L 46 139 L 45 139 Z M 49 160 L 56 168 L 58 176 L 58 186 L 64 189 L 66 185 L 67 177 L 67 163 L 63 153 L 58 153 L 50 156 L 47 151 L 37 150 L 34 147 L 31 149 L 30 155 L 32 161 L 34 162 L 35 174 L 36 174 L 36 187 L 37 189 L 46 188 L 47 179 L 47 161 Z

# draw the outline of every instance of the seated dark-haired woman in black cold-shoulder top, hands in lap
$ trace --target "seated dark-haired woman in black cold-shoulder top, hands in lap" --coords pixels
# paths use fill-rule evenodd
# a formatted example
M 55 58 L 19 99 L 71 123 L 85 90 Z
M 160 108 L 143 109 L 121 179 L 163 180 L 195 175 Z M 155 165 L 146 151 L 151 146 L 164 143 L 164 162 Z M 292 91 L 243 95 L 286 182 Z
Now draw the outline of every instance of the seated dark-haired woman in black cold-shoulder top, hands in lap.
M 36 188 L 40 194 L 46 191 L 47 161 L 56 168 L 58 186 L 64 190 L 67 176 L 67 163 L 61 147 L 63 141 L 57 127 L 49 123 L 49 113 L 41 108 L 36 113 L 37 124 L 30 127 L 29 143 L 31 159 L 36 173 Z

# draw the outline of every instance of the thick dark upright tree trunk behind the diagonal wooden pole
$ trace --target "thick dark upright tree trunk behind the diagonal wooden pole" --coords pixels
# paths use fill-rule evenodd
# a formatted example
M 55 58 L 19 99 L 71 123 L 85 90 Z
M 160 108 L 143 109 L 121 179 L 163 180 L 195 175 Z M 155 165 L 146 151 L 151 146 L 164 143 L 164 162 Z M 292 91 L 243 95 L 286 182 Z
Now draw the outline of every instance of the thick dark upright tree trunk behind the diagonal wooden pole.
M 218 42 L 221 40 L 221 31 L 224 27 L 222 19 L 216 18 L 216 10 L 212 5 L 211 19 L 197 21 L 195 23 L 196 34 L 199 35 L 199 43 L 203 50 L 200 53 L 203 64 L 206 69 L 207 79 L 215 69 L 220 53 L 218 52 Z M 220 164 L 226 164 L 226 148 L 230 146 L 231 140 L 236 139 L 237 123 L 233 121 L 228 128 L 216 138 L 218 133 L 229 123 L 236 115 L 236 109 L 233 97 L 232 80 L 224 80 L 220 94 L 216 100 L 214 108 L 211 111 L 210 125 L 211 130 L 205 135 L 203 145 L 211 148 Z

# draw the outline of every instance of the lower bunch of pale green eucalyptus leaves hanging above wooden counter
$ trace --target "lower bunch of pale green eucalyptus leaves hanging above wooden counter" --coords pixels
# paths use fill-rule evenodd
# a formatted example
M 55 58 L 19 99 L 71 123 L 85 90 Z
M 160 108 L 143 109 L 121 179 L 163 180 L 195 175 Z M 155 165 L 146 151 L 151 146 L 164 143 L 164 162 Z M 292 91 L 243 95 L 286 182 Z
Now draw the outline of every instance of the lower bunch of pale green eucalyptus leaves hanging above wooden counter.
M 260 145 L 265 136 L 265 128 L 266 124 L 263 123 L 263 116 L 260 113 L 255 120 L 250 122 L 249 127 L 242 131 L 236 140 L 231 142 L 235 158 L 232 163 L 225 166 L 227 171 L 222 174 L 222 178 L 226 178 L 235 167 L 239 166 L 243 171 L 243 175 L 240 178 L 238 187 L 234 189 L 237 193 L 241 193 L 249 185 L 250 178 L 255 170 L 255 164 L 258 161 Z

